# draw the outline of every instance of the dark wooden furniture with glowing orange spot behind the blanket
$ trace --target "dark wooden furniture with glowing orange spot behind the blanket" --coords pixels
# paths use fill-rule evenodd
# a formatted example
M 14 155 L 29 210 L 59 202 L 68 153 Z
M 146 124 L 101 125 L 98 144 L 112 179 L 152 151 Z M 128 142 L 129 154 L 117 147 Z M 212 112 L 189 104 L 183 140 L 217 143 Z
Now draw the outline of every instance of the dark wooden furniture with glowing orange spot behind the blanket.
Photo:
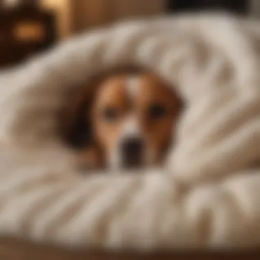
M 18 64 L 51 47 L 55 16 L 34 6 L 0 9 L 0 68 Z

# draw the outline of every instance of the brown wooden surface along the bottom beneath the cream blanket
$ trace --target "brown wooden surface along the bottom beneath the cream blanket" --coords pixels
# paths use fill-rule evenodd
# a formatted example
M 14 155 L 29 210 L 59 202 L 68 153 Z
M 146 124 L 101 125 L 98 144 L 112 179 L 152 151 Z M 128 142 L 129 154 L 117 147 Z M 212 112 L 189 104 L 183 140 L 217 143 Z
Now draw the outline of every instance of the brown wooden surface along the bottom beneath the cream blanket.
M 32 244 L 21 240 L 0 239 L 1 260 L 257 260 L 260 249 L 229 250 L 225 252 L 101 252 L 96 250 L 71 250 L 55 246 Z

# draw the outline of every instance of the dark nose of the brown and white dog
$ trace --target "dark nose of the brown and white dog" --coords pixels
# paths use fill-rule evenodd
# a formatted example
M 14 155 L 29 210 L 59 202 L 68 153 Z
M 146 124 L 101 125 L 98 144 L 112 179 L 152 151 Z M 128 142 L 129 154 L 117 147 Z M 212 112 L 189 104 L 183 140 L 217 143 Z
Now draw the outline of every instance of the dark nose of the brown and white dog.
M 122 161 L 127 167 L 140 166 L 142 164 L 142 151 L 144 143 L 141 138 L 131 137 L 122 142 Z

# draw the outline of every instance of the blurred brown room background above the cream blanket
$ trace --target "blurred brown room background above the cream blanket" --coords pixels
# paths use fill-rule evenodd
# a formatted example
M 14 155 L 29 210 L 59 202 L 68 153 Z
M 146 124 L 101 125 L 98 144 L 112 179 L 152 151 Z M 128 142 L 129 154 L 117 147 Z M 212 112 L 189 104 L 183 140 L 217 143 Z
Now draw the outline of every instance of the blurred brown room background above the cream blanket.
M 260 17 L 260 0 L 0 0 L 0 68 L 123 18 L 202 10 Z

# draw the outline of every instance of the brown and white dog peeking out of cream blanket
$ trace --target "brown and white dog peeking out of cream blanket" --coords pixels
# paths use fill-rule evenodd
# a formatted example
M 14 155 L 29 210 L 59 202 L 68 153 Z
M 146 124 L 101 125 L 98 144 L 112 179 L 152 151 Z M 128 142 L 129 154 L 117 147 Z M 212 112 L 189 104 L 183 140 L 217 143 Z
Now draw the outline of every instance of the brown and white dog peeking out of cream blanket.
M 163 162 L 181 106 L 154 73 L 118 73 L 70 98 L 63 129 L 85 168 L 146 168 Z

